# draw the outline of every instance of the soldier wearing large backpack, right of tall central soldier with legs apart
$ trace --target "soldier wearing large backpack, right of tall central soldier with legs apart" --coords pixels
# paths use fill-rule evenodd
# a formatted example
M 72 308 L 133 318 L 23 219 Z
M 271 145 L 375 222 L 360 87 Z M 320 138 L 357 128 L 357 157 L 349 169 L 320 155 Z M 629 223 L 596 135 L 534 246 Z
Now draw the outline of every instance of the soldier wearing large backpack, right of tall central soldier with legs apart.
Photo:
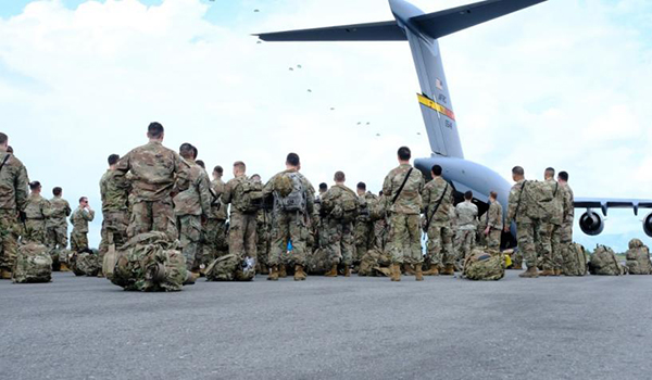
M 326 214 L 325 229 L 328 235 L 326 251 L 330 258 L 330 271 L 326 277 L 337 277 L 337 266 L 341 263 L 344 267 L 344 277 L 351 276 L 353 253 L 353 220 L 358 214 L 358 197 L 346 185 L 342 172 L 334 176 L 335 186 L 322 195 L 322 210 Z

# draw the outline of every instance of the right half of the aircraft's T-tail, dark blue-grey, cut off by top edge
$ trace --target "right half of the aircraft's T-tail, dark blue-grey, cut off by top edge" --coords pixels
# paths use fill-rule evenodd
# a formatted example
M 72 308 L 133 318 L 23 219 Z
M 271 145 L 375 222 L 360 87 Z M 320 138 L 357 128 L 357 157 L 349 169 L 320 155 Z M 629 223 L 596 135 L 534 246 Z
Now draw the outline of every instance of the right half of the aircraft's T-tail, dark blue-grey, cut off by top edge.
M 422 33 L 440 38 L 547 0 L 489 0 L 412 17 Z

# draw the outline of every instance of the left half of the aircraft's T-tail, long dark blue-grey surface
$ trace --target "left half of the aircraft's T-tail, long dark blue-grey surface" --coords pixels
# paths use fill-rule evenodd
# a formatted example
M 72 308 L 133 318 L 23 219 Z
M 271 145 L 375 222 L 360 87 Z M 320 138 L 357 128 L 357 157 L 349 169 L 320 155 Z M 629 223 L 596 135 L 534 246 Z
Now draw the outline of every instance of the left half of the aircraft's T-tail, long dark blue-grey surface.
M 325 28 L 263 33 L 263 41 L 405 41 L 405 33 L 396 21 L 331 26 Z

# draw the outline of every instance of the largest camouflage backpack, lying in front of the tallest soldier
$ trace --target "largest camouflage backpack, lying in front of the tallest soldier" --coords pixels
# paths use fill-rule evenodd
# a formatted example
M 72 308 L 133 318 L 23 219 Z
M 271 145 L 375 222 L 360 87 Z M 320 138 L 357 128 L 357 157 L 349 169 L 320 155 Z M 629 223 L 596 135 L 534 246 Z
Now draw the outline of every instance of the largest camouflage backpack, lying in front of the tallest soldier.
M 135 236 L 117 252 L 111 282 L 125 290 L 180 291 L 190 277 L 178 241 L 160 231 Z

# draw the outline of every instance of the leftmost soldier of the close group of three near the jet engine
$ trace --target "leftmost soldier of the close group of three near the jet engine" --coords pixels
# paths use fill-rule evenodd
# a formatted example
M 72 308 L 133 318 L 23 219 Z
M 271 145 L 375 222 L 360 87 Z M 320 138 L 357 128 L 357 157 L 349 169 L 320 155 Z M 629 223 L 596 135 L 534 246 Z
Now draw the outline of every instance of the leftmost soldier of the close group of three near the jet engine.
M 510 190 L 507 217 L 503 230 L 510 231 L 512 221 L 516 223 L 516 235 L 518 238 L 518 251 L 522 252 L 527 270 L 519 277 L 536 278 L 539 277 L 537 270 L 537 251 L 535 249 L 535 226 L 531 215 L 531 208 L 535 207 L 535 198 L 530 191 L 529 181 L 525 179 L 525 170 L 521 166 L 512 168 L 512 179 L 514 186 Z

